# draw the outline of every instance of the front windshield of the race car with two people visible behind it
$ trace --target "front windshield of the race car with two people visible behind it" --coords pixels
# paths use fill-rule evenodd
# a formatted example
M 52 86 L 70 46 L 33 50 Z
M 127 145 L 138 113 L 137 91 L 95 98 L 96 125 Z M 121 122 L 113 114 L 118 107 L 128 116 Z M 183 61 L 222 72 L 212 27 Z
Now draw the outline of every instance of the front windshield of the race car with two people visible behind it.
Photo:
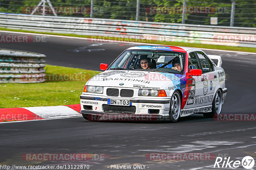
M 108 70 L 140 70 L 182 74 L 185 53 L 156 50 L 126 50 Z

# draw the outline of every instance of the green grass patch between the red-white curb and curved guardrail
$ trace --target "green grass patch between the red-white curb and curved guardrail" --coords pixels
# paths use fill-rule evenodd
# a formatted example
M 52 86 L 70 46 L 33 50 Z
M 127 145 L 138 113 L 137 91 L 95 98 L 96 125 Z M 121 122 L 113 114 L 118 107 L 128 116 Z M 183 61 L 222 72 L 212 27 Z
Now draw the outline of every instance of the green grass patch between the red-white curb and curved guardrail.
M 43 83 L 0 84 L 0 108 L 79 104 L 84 84 L 100 72 L 80 68 L 46 65 L 45 74 L 85 74 L 84 81 L 46 81 Z

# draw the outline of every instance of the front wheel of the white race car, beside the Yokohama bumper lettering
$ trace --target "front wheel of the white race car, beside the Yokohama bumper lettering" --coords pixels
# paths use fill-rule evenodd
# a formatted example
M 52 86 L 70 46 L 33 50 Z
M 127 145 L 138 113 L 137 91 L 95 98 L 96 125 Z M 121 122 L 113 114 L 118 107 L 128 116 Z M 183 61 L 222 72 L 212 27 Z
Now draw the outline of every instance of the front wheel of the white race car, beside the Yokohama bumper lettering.
M 169 118 L 171 123 L 175 123 L 178 121 L 180 117 L 180 109 L 181 109 L 181 99 L 180 93 L 178 91 L 174 91 L 170 103 L 169 110 Z

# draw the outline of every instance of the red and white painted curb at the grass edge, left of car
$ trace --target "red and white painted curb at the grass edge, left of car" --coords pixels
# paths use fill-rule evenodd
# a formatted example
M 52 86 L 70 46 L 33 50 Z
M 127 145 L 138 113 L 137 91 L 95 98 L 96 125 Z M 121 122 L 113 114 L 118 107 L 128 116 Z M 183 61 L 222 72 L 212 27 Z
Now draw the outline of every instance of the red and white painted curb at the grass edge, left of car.
M 80 104 L 0 109 L 0 122 L 80 117 Z

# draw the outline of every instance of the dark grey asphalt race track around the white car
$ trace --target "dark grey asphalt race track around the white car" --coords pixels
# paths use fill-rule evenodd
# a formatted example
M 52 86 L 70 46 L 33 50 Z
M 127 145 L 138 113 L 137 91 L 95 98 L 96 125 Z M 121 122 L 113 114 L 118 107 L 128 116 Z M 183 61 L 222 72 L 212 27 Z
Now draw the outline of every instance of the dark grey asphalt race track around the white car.
M 7 34 L 10 35 L 1 32 L 1 35 Z M 91 70 L 99 70 L 100 63 L 110 64 L 118 54 L 134 46 L 55 37 L 45 40 L 1 43 L 0 46 L 43 53 L 47 56 L 47 64 Z M 205 52 L 220 55 L 227 74 L 228 94 L 222 114 L 255 113 L 256 55 Z M 244 156 L 252 156 L 256 160 L 255 132 L 255 121 L 216 121 L 202 115 L 184 117 L 175 124 L 90 122 L 82 117 L 4 123 L 0 124 L 0 165 L 90 165 L 90 169 L 111 169 L 111 165 L 125 164 L 145 165 L 145 169 L 232 169 L 213 168 L 215 159 L 150 160 L 147 154 L 212 153 L 228 156 L 230 160 L 241 161 Z M 28 161 L 22 159 L 26 153 L 91 153 L 96 157 L 105 154 L 108 158 Z M 255 166 L 253 168 L 256 169 Z

